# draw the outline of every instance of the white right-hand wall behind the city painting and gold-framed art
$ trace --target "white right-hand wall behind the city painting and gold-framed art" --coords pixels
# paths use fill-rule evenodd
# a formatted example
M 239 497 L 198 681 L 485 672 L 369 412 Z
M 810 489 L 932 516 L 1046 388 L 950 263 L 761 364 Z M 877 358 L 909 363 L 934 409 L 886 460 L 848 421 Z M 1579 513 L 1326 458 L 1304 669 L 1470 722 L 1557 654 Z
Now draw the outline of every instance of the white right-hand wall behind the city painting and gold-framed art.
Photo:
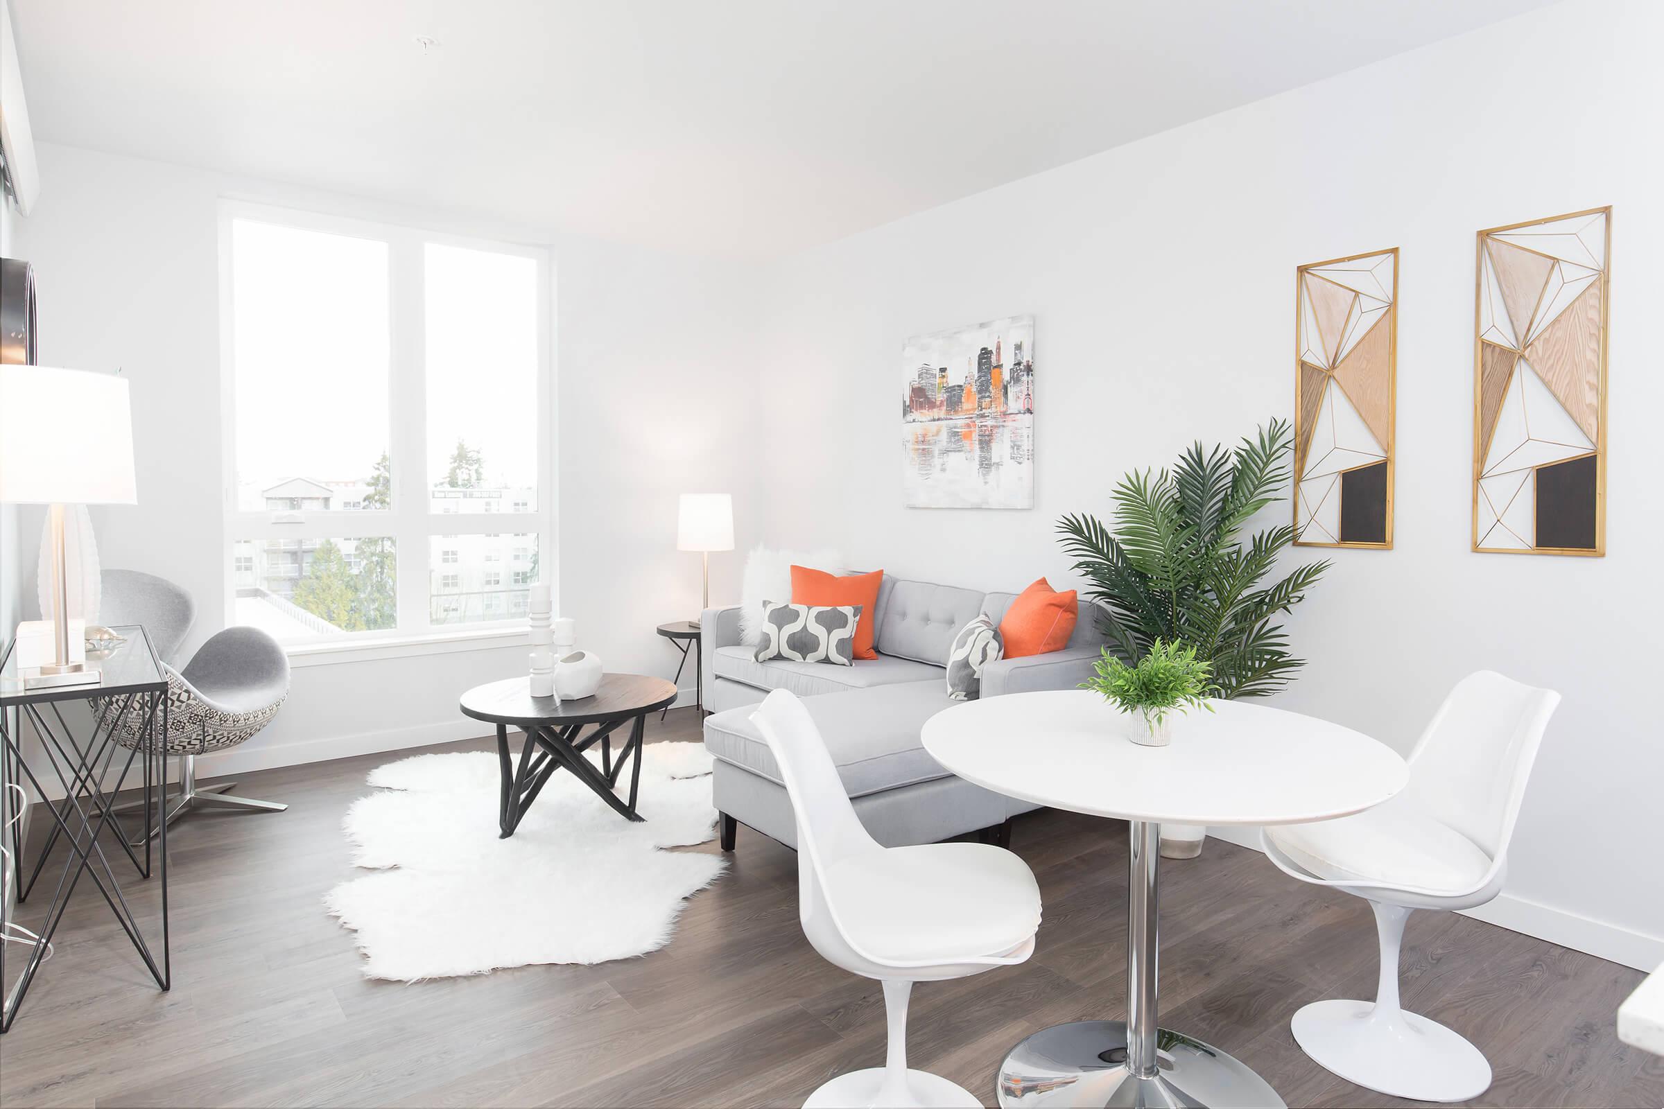
M 1661 37 L 1664 5 L 1562 3 L 789 261 L 762 357 L 770 532 L 892 574 L 1063 585 L 1060 514 L 1291 417 L 1295 266 L 1399 246 L 1396 550 L 1333 552 L 1280 703 L 1403 750 L 1474 668 L 1561 690 L 1493 913 L 1664 959 Z M 1471 554 L 1474 231 L 1607 203 L 1609 554 Z M 1037 316 L 1037 507 L 904 509 L 902 341 L 1015 313 Z

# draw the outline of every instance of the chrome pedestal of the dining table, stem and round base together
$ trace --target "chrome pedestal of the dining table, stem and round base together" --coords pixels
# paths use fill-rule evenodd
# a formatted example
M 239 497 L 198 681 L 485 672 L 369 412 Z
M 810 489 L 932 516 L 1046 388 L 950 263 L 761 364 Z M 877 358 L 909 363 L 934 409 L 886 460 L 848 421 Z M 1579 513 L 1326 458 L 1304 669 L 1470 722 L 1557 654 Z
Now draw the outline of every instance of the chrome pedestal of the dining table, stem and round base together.
M 1077 1021 L 1017 1044 L 1000 1067 L 1000 1106 L 1215 1106 L 1285 1109 L 1251 1069 L 1156 1028 L 1156 860 L 1161 825 L 1127 825 L 1127 1021 Z

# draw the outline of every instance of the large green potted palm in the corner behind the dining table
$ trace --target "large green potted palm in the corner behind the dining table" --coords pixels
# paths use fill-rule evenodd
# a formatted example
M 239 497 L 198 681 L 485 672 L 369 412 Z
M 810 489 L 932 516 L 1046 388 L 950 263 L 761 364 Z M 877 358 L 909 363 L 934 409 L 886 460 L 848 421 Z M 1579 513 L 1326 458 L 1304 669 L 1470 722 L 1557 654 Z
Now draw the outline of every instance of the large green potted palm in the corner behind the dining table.
M 1283 499 L 1293 442 L 1283 419 L 1235 451 L 1195 442 L 1171 471 L 1122 477 L 1112 492 L 1113 527 L 1090 514 L 1058 520 L 1108 650 L 1125 665 L 1137 667 L 1158 640 L 1181 640 L 1208 663 L 1221 698 L 1266 697 L 1305 665 L 1276 619 L 1305 600 L 1330 564 L 1308 562 L 1268 582 L 1295 529 L 1243 535 L 1256 512 Z M 1163 825 L 1161 855 L 1191 858 L 1203 835 Z

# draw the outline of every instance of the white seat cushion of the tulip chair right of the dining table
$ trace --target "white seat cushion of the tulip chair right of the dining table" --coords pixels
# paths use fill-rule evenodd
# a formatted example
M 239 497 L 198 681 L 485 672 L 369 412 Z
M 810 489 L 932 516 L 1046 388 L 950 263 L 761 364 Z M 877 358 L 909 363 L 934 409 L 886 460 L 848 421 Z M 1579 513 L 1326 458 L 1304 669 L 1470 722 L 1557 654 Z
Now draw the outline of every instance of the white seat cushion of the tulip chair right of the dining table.
M 1266 838 L 1318 878 L 1464 893 L 1491 858 L 1468 836 L 1398 795 L 1353 816 L 1266 828 Z

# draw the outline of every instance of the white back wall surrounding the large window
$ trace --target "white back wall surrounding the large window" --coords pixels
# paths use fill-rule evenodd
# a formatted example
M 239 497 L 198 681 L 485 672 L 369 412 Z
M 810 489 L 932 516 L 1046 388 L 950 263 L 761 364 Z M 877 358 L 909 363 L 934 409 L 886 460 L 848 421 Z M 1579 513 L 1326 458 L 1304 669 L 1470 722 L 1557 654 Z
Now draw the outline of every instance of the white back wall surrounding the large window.
M 123 369 L 133 381 L 138 505 L 93 509 L 105 565 L 191 589 L 185 657 L 223 627 L 220 517 L 218 201 L 236 196 L 521 243 L 547 243 L 556 274 L 559 605 L 609 668 L 671 677 L 654 627 L 694 615 L 697 555 L 676 552 L 676 495 L 735 494 L 755 519 L 742 439 L 754 369 L 750 271 L 727 263 L 551 241 L 537 231 L 40 143 L 42 191 L 18 249 L 40 288 L 40 359 Z M 32 564 L 40 512 L 25 510 Z M 714 560 L 714 595 L 737 592 Z M 23 589 L 33 597 L 33 567 Z M 33 609 L 33 604 L 25 604 Z M 283 713 L 206 771 L 281 765 L 478 735 L 456 697 L 524 667 L 524 643 L 411 658 L 303 665 Z M 682 677 L 692 688 L 692 667 Z

